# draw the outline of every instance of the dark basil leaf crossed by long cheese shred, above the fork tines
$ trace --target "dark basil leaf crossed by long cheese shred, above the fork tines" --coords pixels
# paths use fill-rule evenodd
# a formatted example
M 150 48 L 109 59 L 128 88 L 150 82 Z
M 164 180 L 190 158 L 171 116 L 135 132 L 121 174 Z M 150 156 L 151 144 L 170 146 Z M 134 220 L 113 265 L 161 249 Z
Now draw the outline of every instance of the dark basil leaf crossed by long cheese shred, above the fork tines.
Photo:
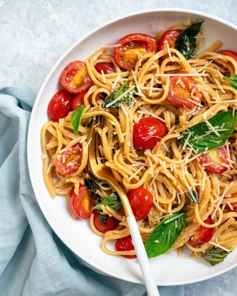
M 103 102 L 102 107 L 107 108 L 107 105 L 111 102 L 113 102 L 115 99 L 117 99 L 119 96 L 121 96 L 125 91 L 129 89 L 126 81 L 124 81 L 123 85 L 116 89 L 110 96 L 108 96 L 107 100 Z M 131 94 L 134 95 L 135 92 L 137 92 L 137 89 L 134 88 L 129 93 L 125 94 L 119 101 L 114 102 L 111 106 L 108 108 L 119 108 L 123 103 L 126 103 L 128 106 L 132 104 L 132 99 L 130 98 Z

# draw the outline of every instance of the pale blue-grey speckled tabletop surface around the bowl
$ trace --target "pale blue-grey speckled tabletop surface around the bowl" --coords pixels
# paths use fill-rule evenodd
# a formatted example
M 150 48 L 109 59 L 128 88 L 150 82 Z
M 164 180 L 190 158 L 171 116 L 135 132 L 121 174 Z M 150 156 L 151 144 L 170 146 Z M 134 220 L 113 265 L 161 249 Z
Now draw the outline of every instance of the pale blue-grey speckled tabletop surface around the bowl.
M 236 0 L 0 0 L 0 85 L 36 95 L 57 59 L 79 38 L 115 17 L 142 9 L 200 10 L 237 25 Z M 185 286 L 185 296 L 237 295 L 237 268 Z M 173 296 L 173 295 L 172 295 Z

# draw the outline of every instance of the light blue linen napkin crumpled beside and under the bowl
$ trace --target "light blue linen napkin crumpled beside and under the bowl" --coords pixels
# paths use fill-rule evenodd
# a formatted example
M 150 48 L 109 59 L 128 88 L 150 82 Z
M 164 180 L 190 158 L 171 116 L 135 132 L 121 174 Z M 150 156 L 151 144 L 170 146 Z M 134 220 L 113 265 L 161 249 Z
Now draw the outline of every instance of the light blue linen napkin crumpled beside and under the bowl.
M 142 296 L 144 285 L 110 277 L 85 263 L 52 231 L 31 186 L 26 142 L 34 96 L 0 88 L 0 295 Z M 159 287 L 161 296 L 184 288 Z

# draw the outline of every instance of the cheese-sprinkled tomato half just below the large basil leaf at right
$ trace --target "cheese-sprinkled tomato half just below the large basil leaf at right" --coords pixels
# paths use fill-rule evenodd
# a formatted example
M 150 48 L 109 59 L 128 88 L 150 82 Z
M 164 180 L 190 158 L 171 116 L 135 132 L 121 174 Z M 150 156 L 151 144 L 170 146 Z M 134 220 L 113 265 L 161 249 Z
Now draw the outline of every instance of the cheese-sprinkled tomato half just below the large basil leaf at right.
M 203 165 L 204 163 L 214 162 L 212 165 L 205 166 L 205 170 L 212 173 L 221 174 L 228 169 L 227 167 L 221 165 L 222 163 L 229 165 L 229 161 L 227 160 L 227 158 L 227 149 L 226 146 L 224 146 L 200 155 L 199 162 L 201 163 L 201 165 Z

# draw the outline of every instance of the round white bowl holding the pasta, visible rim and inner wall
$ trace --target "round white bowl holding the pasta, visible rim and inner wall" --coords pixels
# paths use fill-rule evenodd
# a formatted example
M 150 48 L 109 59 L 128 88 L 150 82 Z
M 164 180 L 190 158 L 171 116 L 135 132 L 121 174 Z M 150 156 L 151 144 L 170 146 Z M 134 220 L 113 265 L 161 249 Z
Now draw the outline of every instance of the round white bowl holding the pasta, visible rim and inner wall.
M 136 259 L 129 260 L 117 255 L 108 255 L 101 249 L 101 237 L 95 234 L 89 220 L 74 220 L 68 211 L 66 198 L 58 196 L 52 200 L 44 184 L 42 175 L 40 130 L 48 121 L 47 106 L 52 96 L 62 89 L 60 74 L 73 60 L 84 60 L 106 43 L 115 44 L 130 33 L 146 33 L 155 36 L 158 25 L 164 29 L 170 25 L 183 23 L 187 18 L 205 20 L 202 25 L 206 50 L 217 39 L 223 42 L 223 49 L 236 50 L 237 27 L 218 17 L 187 9 L 153 9 L 136 12 L 101 26 L 74 44 L 55 64 L 36 98 L 28 130 L 28 166 L 31 183 L 39 206 L 48 223 L 58 237 L 80 258 L 90 265 L 125 281 L 142 283 L 141 272 Z M 201 259 L 177 257 L 177 251 L 150 259 L 156 284 L 159 286 L 190 284 L 203 281 L 237 266 L 237 249 L 222 263 L 210 266 Z

